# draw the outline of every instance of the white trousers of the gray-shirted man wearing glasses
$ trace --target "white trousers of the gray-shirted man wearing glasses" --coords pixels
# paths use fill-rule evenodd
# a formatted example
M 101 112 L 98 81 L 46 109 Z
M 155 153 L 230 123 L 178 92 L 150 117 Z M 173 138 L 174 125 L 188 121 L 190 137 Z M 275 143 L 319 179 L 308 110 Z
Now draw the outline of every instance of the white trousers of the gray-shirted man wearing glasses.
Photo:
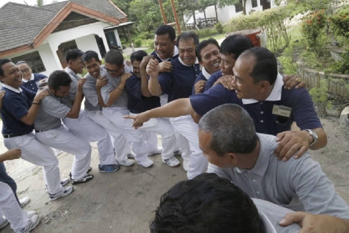
M 132 127 L 132 119 L 125 119 L 124 115 L 129 115 L 127 109 L 103 108 L 103 115 L 113 123 L 135 153 L 135 159 L 141 162 L 148 155 L 146 144 L 144 143 L 143 131 Z M 115 140 L 114 147 L 117 154 L 127 154 L 129 147 L 124 140 Z

